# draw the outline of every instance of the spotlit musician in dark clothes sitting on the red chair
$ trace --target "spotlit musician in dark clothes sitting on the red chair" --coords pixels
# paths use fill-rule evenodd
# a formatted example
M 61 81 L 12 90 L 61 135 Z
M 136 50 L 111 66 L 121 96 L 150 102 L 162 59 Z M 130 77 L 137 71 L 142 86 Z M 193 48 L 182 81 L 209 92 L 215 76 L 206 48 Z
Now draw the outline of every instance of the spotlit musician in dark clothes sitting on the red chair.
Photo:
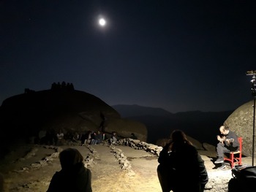
M 217 160 L 215 164 L 222 164 L 218 169 L 224 169 L 226 166 L 224 164 L 224 153 L 230 151 L 236 151 L 239 148 L 238 136 L 235 132 L 230 131 L 228 126 L 219 127 L 220 135 L 217 135 L 219 143 L 217 144 Z

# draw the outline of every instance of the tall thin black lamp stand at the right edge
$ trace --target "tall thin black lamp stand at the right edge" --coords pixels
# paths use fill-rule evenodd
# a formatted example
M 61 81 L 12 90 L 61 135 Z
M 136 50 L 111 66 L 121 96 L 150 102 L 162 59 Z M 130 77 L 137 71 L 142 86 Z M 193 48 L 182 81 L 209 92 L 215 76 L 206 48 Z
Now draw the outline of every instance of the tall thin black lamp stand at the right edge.
M 247 71 L 246 75 L 252 75 L 252 96 L 253 96 L 253 123 L 252 123 L 252 166 L 255 159 L 255 100 L 256 100 L 256 70 Z

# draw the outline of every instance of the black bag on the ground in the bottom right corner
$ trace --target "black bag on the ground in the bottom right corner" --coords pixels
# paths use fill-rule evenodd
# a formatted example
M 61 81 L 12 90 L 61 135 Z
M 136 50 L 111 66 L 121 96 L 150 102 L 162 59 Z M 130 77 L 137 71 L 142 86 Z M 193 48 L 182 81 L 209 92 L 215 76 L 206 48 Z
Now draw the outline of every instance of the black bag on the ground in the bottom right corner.
M 233 178 L 228 183 L 228 191 L 236 192 L 252 188 L 256 183 L 256 166 L 236 165 L 231 169 Z

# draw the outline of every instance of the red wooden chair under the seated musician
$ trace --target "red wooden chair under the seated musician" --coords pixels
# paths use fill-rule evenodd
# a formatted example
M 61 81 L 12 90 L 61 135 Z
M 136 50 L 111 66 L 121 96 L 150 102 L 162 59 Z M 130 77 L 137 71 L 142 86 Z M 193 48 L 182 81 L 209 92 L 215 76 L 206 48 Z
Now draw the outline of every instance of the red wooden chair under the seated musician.
M 239 150 L 230 151 L 229 157 L 224 158 L 224 161 L 229 161 L 231 164 L 231 169 L 235 166 L 235 164 L 241 165 L 242 164 L 242 137 L 238 137 L 239 142 Z

